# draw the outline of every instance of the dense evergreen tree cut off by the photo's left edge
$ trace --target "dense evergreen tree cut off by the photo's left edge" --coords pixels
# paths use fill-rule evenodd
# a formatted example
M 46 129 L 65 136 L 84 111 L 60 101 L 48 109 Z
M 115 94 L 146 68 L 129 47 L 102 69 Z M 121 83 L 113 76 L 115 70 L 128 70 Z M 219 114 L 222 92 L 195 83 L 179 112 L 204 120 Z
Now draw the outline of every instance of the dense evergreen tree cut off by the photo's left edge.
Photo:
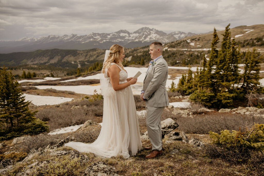
M 48 131 L 47 122 L 34 117 L 11 71 L 0 70 L 0 140 Z

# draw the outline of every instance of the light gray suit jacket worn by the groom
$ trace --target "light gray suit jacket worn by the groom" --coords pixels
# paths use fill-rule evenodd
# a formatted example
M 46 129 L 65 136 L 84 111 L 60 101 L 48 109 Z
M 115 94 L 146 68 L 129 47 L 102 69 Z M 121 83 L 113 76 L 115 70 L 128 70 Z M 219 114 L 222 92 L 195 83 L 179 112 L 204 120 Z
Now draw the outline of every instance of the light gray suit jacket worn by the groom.
M 149 107 L 164 107 L 169 105 L 166 81 L 168 78 L 168 64 L 161 56 L 156 64 L 149 66 L 143 82 L 144 98 Z

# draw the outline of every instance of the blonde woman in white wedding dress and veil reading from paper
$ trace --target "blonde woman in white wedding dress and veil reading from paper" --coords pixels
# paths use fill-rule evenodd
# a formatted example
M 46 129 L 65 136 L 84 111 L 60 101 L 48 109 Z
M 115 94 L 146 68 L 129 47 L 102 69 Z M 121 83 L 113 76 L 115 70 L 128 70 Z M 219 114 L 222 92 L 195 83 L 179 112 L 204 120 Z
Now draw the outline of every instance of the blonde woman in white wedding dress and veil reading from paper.
M 100 76 L 104 100 L 103 122 L 98 138 L 91 144 L 69 142 L 65 146 L 104 158 L 117 155 L 129 158 L 141 149 L 136 106 L 130 88 L 137 79 L 128 78 L 122 65 L 124 57 L 125 51 L 120 45 L 112 45 L 110 50 L 106 50 Z

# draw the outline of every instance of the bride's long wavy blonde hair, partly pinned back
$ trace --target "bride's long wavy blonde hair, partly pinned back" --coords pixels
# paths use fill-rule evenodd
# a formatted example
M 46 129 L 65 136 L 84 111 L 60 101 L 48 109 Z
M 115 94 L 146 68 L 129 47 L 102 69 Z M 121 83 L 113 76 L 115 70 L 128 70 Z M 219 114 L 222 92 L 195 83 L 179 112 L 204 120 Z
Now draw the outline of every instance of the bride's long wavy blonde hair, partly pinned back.
M 117 64 L 124 70 L 124 66 L 122 65 L 119 59 L 122 54 L 123 49 L 124 47 L 118 44 L 114 44 L 110 47 L 110 54 L 108 58 L 106 59 L 106 61 L 103 63 L 103 68 L 102 68 L 103 73 L 105 73 L 105 69 L 110 67 L 111 63 Z

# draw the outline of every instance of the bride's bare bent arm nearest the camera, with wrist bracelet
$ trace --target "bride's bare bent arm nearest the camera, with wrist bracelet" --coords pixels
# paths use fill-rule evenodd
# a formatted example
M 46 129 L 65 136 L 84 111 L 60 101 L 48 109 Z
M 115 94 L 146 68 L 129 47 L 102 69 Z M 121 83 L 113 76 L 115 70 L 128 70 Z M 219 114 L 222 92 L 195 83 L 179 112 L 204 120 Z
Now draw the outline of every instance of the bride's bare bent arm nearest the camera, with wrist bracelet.
M 117 67 L 117 65 L 111 65 L 107 71 L 107 73 L 110 76 L 112 87 L 115 91 L 122 90 L 128 87 L 129 85 L 136 83 L 137 79 L 131 79 L 126 83 L 119 84 L 119 72 L 120 69 Z

